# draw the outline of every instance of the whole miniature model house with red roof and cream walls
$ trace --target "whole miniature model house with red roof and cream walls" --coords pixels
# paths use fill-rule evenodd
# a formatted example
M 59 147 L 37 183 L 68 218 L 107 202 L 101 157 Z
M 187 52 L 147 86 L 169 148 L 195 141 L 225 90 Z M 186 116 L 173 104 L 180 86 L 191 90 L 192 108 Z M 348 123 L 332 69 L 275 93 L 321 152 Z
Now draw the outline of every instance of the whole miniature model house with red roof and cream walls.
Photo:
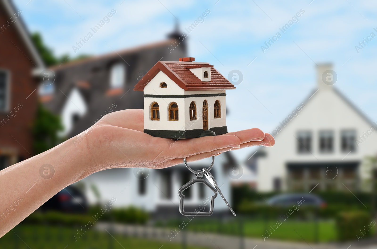
M 144 132 L 163 138 L 227 133 L 227 89 L 235 87 L 208 62 L 157 62 L 134 88 L 144 91 Z

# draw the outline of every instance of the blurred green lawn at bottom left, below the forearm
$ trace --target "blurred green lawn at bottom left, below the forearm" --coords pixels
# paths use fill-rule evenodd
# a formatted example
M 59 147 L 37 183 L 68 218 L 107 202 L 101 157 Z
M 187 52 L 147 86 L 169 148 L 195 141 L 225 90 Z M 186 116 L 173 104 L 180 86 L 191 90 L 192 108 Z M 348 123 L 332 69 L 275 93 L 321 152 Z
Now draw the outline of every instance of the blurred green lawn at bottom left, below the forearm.
M 182 244 L 169 241 L 155 241 L 144 238 L 131 238 L 97 232 L 90 227 L 75 241 L 77 228 L 18 225 L 0 238 L 0 248 L 4 249 L 180 249 Z M 13 232 L 14 231 L 14 232 Z M 179 242 L 179 241 L 177 241 Z M 204 247 L 187 246 L 187 249 L 204 249 Z

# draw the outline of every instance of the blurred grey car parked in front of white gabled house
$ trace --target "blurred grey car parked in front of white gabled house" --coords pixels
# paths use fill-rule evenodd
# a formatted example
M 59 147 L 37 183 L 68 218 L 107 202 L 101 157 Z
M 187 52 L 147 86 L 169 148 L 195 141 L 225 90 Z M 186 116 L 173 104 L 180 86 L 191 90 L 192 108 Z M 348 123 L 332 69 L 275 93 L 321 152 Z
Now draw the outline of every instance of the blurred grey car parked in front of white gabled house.
M 311 205 L 318 208 L 326 206 L 326 202 L 314 194 L 279 194 L 267 200 L 271 206 Z M 301 202 L 301 204 L 300 204 Z

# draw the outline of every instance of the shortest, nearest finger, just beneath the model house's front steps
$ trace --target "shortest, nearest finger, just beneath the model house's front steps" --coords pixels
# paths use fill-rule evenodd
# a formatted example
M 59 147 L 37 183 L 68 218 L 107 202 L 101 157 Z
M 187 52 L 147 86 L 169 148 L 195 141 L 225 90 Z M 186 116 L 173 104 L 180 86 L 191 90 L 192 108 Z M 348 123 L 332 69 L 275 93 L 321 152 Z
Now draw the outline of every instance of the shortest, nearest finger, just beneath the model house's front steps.
M 171 144 L 169 153 L 175 158 L 186 158 L 200 153 L 227 147 L 239 147 L 241 140 L 235 135 L 208 136 L 176 141 Z

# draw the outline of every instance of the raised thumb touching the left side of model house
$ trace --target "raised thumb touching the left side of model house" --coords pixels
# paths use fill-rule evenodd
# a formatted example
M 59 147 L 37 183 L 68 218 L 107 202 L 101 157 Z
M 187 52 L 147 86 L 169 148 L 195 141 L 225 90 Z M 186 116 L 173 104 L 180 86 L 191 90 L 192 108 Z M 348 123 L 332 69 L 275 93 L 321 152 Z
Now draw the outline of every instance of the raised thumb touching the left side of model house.
M 96 125 L 112 125 L 135 131 L 144 131 L 143 109 L 126 109 L 112 112 L 101 118 Z

